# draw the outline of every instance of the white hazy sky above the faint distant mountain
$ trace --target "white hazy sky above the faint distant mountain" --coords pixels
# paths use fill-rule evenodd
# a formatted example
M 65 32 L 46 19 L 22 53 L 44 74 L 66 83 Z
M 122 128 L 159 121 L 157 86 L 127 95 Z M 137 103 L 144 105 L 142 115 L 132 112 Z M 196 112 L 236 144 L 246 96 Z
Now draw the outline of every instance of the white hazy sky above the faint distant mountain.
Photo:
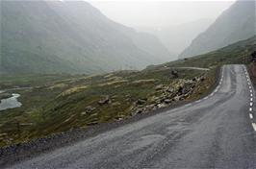
M 131 26 L 177 25 L 201 18 L 216 18 L 234 0 L 229 1 L 154 1 L 118 0 L 90 1 L 90 4 L 112 20 Z

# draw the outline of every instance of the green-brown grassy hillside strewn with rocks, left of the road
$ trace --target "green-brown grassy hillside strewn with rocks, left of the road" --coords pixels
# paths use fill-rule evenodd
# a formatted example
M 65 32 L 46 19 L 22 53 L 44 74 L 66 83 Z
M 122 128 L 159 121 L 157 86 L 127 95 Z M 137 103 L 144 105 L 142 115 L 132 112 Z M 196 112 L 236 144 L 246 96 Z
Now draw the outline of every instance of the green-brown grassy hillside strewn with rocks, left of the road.
M 255 41 L 254 36 L 203 56 L 148 66 L 142 71 L 95 76 L 1 76 L 2 89 L 16 85 L 33 88 L 8 91 L 21 94 L 18 100 L 23 105 L 0 112 L 0 145 L 115 122 L 196 100 L 215 84 L 218 66 L 249 63 Z M 210 70 L 175 68 L 179 66 Z

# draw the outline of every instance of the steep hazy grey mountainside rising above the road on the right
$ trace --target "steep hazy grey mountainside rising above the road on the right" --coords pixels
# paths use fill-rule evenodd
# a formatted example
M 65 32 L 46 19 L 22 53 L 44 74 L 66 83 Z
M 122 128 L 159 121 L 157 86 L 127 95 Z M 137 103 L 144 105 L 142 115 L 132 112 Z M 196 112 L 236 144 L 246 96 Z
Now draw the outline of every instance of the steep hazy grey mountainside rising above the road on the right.
M 255 1 L 237 1 L 222 12 L 202 34 L 196 36 L 179 58 L 204 54 L 256 35 Z

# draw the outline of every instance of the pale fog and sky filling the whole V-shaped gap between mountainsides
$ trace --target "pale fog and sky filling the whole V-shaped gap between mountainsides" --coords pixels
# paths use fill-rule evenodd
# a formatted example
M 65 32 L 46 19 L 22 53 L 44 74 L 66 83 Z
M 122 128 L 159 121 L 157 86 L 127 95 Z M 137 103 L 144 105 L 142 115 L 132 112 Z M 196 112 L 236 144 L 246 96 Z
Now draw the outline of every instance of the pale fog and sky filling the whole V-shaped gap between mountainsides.
M 234 1 L 89 2 L 115 22 L 157 36 L 175 60 Z

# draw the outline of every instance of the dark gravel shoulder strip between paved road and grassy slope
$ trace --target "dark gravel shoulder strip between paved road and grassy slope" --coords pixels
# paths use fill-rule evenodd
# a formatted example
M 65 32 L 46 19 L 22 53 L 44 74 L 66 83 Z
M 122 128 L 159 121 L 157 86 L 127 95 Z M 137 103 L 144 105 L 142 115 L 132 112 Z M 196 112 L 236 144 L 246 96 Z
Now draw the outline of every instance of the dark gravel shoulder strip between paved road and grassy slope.
M 198 100 L 201 100 L 207 96 L 209 96 L 218 86 L 220 81 L 220 73 L 222 70 L 222 66 L 216 67 L 215 72 L 215 83 L 211 85 L 209 90 L 202 95 L 197 100 L 192 101 L 181 101 L 176 103 L 175 105 L 171 105 L 170 107 L 163 109 L 156 109 L 153 111 L 149 111 L 147 113 L 137 114 L 129 119 L 125 119 L 122 121 L 116 121 L 113 123 L 103 123 L 95 126 L 90 126 L 87 128 L 74 129 L 72 131 L 67 131 L 65 133 L 53 133 L 49 136 L 38 138 L 31 140 L 29 142 L 18 143 L 8 147 L 0 148 L 0 166 L 7 167 L 12 166 L 14 163 L 17 163 L 21 160 L 26 160 L 31 157 L 37 157 L 46 152 L 54 151 L 56 149 L 67 147 L 73 145 L 79 141 L 83 141 L 87 138 L 96 136 L 100 133 L 105 133 L 111 130 L 115 130 L 118 127 L 122 127 L 124 125 L 132 124 L 141 119 L 165 112 L 170 109 L 177 109 L 183 107 L 187 104 L 192 104 Z

